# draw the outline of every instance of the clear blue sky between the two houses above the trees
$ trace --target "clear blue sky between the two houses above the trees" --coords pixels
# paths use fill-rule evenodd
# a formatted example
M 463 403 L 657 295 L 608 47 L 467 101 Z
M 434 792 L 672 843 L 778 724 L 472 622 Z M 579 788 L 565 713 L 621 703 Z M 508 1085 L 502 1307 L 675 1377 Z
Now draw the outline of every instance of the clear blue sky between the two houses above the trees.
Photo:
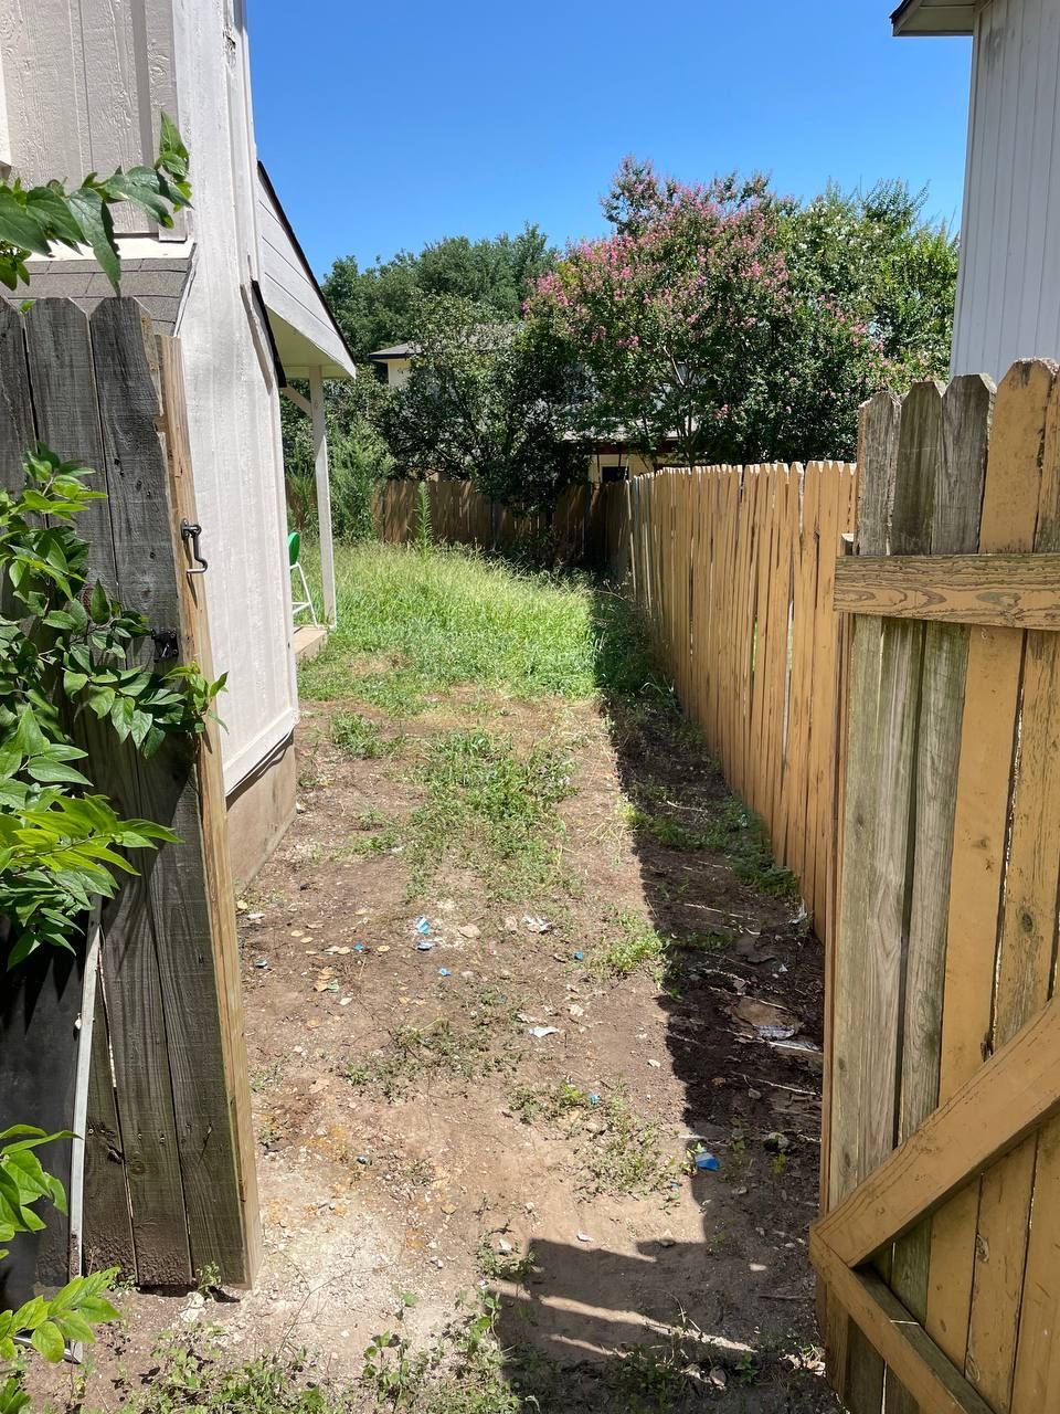
M 249 0 L 259 154 L 319 276 L 441 236 L 603 228 L 626 153 L 808 197 L 930 184 L 960 219 L 971 42 L 888 0 Z

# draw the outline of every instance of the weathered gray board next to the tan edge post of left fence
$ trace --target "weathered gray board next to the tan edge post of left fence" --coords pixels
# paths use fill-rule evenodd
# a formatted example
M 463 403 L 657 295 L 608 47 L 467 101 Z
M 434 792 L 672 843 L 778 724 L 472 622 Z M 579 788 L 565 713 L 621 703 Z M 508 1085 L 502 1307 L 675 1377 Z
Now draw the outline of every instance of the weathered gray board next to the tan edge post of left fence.
M 133 301 L 110 300 L 92 315 L 92 341 L 119 594 L 157 628 L 177 631 L 177 577 L 184 567 L 175 561 L 165 452 L 155 427 L 161 406 L 154 335 Z M 165 1027 L 188 1260 L 192 1274 L 208 1263 L 236 1271 L 242 1251 L 239 1195 L 230 1181 L 230 1127 L 218 1120 L 226 1114 L 225 1068 L 192 747 L 167 742 L 153 761 L 134 761 L 133 771 L 136 813 L 179 836 L 178 844 L 146 861 L 144 885 L 154 943 L 150 986 L 158 988 Z M 107 993 L 113 990 L 109 984 Z M 126 1017 L 119 1027 L 112 1011 L 112 1025 L 119 1032 L 134 1027 L 136 1018 Z M 126 1103 L 123 1130 L 127 1114 Z M 171 1168 L 167 1162 L 167 1184 L 172 1182 Z M 139 1208 L 134 1200 L 134 1220 Z

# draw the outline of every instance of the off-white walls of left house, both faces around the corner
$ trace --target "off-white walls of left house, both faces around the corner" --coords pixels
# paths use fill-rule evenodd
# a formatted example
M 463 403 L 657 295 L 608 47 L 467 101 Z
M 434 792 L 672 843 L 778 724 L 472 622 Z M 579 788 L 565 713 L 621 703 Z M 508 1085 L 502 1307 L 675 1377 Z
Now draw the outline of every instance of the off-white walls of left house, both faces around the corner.
M 0 42 L 23 178 L 153 161 L 161 107 L 191 151 L 194 209 L 179 235 L 194 240 L 195 270 L 177 334 L 213 662 L 229 674 L 219 710 L 232 792 L 287 740 L 297 710 L 280 400 L 250 288 L 257 164 L 243 0 L 0 0 Z M 143 232 L 129 243 L 136 255 L 174 249 L 160 250 L 143 219 L 124 229 Z

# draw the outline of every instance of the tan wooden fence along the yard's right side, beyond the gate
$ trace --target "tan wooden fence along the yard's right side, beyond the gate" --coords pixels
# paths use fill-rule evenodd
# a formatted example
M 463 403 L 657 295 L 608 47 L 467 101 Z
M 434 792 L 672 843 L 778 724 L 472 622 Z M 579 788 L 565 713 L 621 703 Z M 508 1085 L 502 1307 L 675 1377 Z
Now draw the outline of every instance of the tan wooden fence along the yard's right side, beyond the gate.
M 603 489 L 599 554 L 636 601 L 729 785 L 823 933 L 834 853 L 841 534 L 855 468 L 707 467 Z

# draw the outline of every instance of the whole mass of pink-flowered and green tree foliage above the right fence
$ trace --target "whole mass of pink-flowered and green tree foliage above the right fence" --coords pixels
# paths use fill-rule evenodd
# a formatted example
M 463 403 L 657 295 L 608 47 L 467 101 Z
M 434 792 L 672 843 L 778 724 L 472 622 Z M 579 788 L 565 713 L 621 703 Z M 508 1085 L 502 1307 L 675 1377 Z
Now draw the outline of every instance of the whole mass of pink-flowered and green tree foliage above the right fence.
M 613 235 L 530 301 L 577 348 L 598 436 L 683 462 L 849 457 L 865 397 L 946 370 L 955 243 L 900 184 L 803 208 L 760 177 L 687 187 L 628 160 L 603 209 Z

